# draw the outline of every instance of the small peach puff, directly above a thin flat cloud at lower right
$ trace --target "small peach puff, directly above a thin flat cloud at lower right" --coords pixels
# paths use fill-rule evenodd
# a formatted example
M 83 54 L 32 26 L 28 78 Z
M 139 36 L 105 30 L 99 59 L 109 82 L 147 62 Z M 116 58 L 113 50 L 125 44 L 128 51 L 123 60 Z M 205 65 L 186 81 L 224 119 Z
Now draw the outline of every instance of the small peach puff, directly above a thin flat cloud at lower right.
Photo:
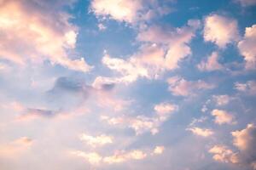
M 212 111 L 212 116 L 215 116 L 214 122 L 219 125 L 222 125 L 225 123 L 232 124 L 232 123 L 234 123 L 234 119 L 235 119 L 235 117 L 232 116 L 227 111 L 218 110 L 218 109 L 215 109 Z

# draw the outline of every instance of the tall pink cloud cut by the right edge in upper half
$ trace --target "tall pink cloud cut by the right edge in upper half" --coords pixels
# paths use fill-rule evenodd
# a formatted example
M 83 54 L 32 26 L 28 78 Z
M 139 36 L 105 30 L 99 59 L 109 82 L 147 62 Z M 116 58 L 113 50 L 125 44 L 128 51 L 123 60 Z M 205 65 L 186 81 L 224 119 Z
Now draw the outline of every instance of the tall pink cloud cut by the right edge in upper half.
M 247 27 L 245 30 L 245 35 L 238 42 L 238 49 L 240 54 L 244 57 L 246 61 L 247 69 L 255 69 L 256 68 L 256 25 L 251 27 Z

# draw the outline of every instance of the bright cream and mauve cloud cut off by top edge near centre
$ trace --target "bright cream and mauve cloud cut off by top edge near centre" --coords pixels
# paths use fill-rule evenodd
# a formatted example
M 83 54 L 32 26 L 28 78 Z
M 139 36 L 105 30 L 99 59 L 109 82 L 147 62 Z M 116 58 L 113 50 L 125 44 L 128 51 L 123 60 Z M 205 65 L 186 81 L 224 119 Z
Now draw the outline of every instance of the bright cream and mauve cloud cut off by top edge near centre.
M 103 20 L 109 18 L 119 22 L 137 24 L 168 14 L 172 9 L 167 5 L 162 5 L 159 1 L 93 0 L 90 3 L 90 11 Z

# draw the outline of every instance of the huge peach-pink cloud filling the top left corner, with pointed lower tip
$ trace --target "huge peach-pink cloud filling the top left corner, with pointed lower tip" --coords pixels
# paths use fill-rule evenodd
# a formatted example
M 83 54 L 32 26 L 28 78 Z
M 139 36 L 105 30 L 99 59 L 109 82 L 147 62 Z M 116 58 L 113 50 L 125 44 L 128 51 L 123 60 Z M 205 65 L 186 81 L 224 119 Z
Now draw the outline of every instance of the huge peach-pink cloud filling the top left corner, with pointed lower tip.
M 4 0 L 0 3 L 0 15 L 0 59 L 18 65 L 49 60 L 74 71 L 92 68 L 84 58 L 68 58 L 67 50 L 75 48 L 78 32 L 60 6 L 49 8 L 45 2 Z

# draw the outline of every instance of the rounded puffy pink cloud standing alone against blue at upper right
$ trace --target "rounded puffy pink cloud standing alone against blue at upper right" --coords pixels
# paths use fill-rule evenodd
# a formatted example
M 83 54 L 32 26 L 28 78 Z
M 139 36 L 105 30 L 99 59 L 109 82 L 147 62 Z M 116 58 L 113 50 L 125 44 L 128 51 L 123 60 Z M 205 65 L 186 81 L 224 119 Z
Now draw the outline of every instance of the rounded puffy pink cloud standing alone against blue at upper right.
M 219 48 L 238 40 L 237 21 L 219 14 L 208 15 L 205 19 L 204 39 L 214 42 Z

